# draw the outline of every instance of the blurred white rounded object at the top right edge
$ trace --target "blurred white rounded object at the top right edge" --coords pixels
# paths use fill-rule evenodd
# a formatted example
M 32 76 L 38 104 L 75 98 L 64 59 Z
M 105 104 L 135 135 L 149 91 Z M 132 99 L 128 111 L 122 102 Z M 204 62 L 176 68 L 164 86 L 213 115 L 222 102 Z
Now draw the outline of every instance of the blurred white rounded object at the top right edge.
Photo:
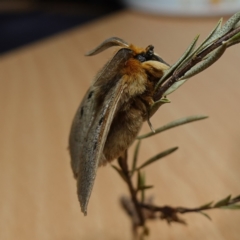
M 122 0 L 142 12 L 175 16 L 230 15 L 240 10 L 240 0 Z

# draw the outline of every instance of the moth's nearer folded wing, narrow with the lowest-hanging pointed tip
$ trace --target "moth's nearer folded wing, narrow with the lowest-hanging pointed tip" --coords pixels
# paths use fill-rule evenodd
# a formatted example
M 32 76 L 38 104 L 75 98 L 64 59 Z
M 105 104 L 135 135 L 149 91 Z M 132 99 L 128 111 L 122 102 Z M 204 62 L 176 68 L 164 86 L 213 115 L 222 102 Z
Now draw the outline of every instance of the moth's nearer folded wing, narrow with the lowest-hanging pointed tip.
M 122 79 L 120 79 L 114 91 L 104 101 L 101 112 L 94 119 L 80 155 L 77 191 L 81 210 L 85 215 L 87 214 L 87 205 L 92 192 L 99 160 L 102 157 L 111 122 L 124 88 L 125 85 L 122 83 Z

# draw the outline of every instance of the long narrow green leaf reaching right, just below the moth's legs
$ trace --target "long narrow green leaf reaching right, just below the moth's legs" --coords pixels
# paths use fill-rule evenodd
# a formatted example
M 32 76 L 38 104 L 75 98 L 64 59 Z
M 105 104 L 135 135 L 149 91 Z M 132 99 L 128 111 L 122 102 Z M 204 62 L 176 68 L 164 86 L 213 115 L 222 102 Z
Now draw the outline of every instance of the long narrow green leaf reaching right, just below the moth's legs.
M 144 135 L 141 135 L 141 136 L 137 137 L 137 139 L 148 138 L 148 137 L 151 137 L 151 136 L 153 136 L 155 134 L 158 134 L 160 132 L 166 131 L 168 129 L 171 129 L 171 128 L 174 128 L 174 127 L 186 124 L 186 123 L 202 120 L 202 119 L 205 119 L 205 118 L 208 118 L 208 116 L 197 115 L 197 116 L 189 116 L 189 117 L 185 117 L 185 118 L 180 118 L 180 119 L 177 119 L 177 120 L 172 121 L 170 123 L 167 123 L 166 125 L 164 125 L 164 126 L 162 126 L 160 128 L 157 128 L 155 130 L 155 133 L 149 132 L 147 134 L 144 134 Z

